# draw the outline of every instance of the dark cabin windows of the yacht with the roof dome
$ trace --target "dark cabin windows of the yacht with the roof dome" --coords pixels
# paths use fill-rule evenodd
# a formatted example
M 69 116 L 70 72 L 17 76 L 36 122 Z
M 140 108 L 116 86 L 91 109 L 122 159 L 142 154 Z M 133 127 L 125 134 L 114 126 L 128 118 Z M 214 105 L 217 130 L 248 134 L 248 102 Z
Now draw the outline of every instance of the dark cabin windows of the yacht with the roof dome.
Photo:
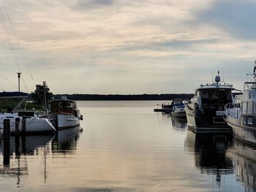
M 224 105 L 232 101 L 230 89 L 204 89 L 200 90 L 201 104 L 203 108 L 224 109 Z

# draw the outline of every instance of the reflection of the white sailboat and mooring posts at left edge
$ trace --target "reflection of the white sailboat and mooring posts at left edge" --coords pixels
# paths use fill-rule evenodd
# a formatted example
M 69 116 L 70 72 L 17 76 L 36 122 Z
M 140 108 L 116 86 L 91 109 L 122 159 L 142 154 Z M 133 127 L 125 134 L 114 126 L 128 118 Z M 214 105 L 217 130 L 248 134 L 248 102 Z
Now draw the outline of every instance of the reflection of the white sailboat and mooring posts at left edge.
M 0 164 L 0 177 L 16 177 L 20 187 L 20 177 L 29 174 L 29 156 L 42 154 L 45 158 L 43 177 L 46 178 L 47 144 L 51 139 L 53 136 L 10 137 L 10 142 L 1 140 L 0 150 L 4 159 Z

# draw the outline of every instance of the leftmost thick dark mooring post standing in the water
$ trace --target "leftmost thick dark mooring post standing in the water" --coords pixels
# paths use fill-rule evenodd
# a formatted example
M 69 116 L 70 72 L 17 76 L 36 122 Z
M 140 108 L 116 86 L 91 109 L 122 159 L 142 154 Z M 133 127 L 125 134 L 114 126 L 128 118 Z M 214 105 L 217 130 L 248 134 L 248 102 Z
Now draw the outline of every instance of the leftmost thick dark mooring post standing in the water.
M 10 165 L 10 119 L 4 119 L 4 165 Z

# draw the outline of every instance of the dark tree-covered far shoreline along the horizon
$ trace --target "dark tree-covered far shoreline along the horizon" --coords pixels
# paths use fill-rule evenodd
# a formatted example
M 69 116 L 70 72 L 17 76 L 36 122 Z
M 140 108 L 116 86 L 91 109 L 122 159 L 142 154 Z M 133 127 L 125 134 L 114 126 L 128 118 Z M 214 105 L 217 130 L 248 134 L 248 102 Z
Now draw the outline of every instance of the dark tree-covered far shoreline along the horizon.
M 135 94 L 135 95 L 119 95 L 119 94 L 56 94 L 54 99 L 61 99 L 61 96 L 67 96 L 67 99 L 74 101 L 154 101 L 154 100 L 172 100 L 172 99 L 190 99 L 194 94 L 176 93 L 176 94 Z

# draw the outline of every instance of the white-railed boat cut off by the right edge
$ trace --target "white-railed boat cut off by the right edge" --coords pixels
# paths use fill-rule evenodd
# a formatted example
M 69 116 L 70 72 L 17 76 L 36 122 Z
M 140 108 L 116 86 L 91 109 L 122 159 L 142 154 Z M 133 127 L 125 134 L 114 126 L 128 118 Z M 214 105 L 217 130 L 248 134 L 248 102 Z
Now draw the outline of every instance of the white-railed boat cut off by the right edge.
M 233 129 L 233 136 L 249 145 L 256 145 L 256 62 L 254 80 L 244 82 L 244 93 L 235 97 L 235 104 L 225 105 L 225 121 Z

